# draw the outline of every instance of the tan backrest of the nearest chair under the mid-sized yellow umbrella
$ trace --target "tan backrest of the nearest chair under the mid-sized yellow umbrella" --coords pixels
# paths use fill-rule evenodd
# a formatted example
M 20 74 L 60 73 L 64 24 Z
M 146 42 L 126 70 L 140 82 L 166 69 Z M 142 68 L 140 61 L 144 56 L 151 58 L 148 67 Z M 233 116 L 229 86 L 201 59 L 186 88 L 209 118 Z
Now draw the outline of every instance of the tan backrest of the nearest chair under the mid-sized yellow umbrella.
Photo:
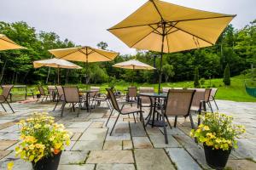
M 62 87 L 66 103 L 79 103 L 79 88 L 78 87 Z

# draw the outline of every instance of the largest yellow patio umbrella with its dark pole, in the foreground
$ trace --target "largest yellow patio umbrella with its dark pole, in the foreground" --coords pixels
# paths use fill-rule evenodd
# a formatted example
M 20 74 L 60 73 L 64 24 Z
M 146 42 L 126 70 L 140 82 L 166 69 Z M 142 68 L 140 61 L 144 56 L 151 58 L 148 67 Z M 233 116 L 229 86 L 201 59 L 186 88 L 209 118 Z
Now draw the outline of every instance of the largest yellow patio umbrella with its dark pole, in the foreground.
M 235 16 L 149 0 L 108 31 L 130 48 L 161 52 L 160 92 L 163 53 L 214 45 Z

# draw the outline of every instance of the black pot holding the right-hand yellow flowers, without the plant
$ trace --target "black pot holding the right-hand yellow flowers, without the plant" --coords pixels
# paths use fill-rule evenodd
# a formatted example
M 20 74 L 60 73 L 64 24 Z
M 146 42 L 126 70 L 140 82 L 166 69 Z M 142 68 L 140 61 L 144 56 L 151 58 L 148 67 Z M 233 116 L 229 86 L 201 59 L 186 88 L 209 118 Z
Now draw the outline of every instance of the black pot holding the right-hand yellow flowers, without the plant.
M 224 169 L 229 160 L 230 150 L 212 150 L 211 146 L 204 144 L 205 156 L 209 167 Z

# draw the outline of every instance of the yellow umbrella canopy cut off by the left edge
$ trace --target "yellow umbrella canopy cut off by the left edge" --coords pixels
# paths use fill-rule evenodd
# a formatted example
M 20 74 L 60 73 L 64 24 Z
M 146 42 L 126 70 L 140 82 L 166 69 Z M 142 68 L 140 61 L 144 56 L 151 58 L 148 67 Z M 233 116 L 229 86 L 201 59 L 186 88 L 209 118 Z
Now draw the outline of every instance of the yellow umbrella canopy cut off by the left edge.
M 8 50 L 8 49 L 21 49 L 21 48 L 24 48 L 24 47 L 16 44 L 5 35 L 0 34 L 0 51 Z

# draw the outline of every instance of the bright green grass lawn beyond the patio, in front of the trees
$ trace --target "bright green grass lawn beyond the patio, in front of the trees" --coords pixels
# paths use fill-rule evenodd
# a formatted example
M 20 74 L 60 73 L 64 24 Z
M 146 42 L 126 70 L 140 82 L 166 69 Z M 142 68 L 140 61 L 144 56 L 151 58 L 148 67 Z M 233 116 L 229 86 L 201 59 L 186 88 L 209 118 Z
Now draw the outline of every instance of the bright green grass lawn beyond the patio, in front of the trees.
M 256 98 L 248 95 L 245 90 L 244 80 L 245 78 L 242 76 L 239 77 L 232 77 L 231 78 L 231 86 L 225 87 L 224 83 L 222 82 L 223 79 L 212 79 L 211 81 L 206 80 L 205 84 L 202 88 L 218 88 L 217 99 L 226 99 L 226 100 L 233 100 L 233 101 L 241 101 L 241 102 L 256 102 Z M 148 84 L 148 83 L 135 83 L 137 87 L 154 87 L 155 92 L 158 90 L 158 84 Z M 79 88 L 86 88 L 86 85 L 79 84 Z M 90 86 L 100 86 L 102 92 L 105 91 L 105 88 L 108 88 L 108 83 L 103 84 L 94 84 Z M 115 88 L 119 91 L 123 91 L 131 86 L 130 82 L 117 82 L 115 84 Z M 161 87 L 172 87 L 172 88 L 193 88 L 193 82 L 169 82 L 169 83 L 162 83 Z M 29 86 L 28 88 L 36 88 L 35 85 Z M 1 89 L 0 89 L 1 91 Z M 125 93 L 125 92 L 124 92 Z M 15 99 L 15 96 L 14 96 Z

